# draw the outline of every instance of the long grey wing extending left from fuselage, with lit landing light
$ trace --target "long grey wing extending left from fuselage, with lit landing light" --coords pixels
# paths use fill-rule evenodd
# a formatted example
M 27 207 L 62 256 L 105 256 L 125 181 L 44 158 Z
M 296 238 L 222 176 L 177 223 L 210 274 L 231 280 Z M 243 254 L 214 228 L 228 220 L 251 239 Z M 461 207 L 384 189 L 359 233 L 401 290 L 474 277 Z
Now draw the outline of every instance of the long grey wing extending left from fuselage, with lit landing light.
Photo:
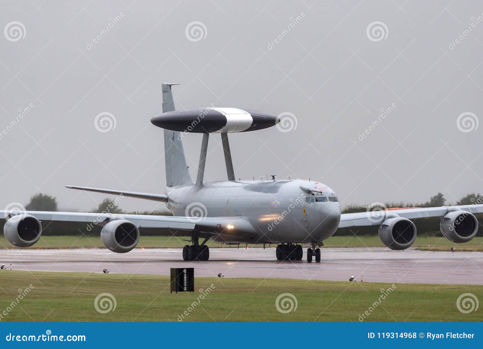
M 0 217 L 6 217 L 6 219 L 18 214 L 34 216 L 41 222 L 85 222 L 99 224 L 101 226 L 112 220 L 125 219 L 136 224 L 141 232 L 151 231 L 161 236 L 187 236 L 194 230 L 220 236 L 242 236 L 256 233 L 252 224 L 243 217 L 198 218 L 139 214 L 0 210 Z M 228 225 L 230 225 L 230 228 L 228 228 Z

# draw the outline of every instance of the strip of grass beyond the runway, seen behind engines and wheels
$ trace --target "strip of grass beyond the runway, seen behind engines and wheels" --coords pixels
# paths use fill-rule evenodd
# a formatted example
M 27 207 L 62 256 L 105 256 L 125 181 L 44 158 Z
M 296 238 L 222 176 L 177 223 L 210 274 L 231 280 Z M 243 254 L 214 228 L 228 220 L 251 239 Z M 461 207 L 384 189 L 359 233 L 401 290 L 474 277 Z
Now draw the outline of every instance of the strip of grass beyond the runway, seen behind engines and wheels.
M 176 248 L 187 244 L 184 239 L 189 237 L 153 237 L 142 236 L 138 248 Z M 429 244 L 429 248 L 428 248 Z M 229 247 L 224 244 L 217 244 L 209 241 L 207 245 L 211 248 Z M 324 241 L 325 247 L 384 247 L 378 236 L 340 236 L 330 237 Z M 240 245 L 245 247 L 245 245 Z M 271 245 L 275 247 L 275 245 Z M 231 245 L 237 248 L 236 245 Z M 249 247 L 263 247 L 263 245 L 249 245 Z M 268 245 L 267 245 L 268 247 Z M 444 237 L 417 237 L 412 247 L 420 250 L 450 251 L 456 247 L 456 251 L 483 251 L 483 237 L 475 237 L 465 244 L 455 244 Z M 0 236 L 0 249 L 14 248 L 3 236 Z M 29 249 L 67 249 L 67 248 L 105 248 L 100 237 L 79 237 L 79 236 L 43 236 L 39 242 Z

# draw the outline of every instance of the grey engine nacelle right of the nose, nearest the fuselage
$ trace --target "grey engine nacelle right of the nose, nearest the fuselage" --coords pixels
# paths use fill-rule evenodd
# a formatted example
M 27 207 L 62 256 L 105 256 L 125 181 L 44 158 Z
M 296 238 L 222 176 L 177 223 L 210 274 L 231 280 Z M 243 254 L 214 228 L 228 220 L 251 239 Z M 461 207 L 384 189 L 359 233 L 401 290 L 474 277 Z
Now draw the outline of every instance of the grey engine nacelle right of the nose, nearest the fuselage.
M 406 250 L 416 239 L 416 226 L 407 218 L 388 218 L 379 226 L 379 238 L 391 250 Z

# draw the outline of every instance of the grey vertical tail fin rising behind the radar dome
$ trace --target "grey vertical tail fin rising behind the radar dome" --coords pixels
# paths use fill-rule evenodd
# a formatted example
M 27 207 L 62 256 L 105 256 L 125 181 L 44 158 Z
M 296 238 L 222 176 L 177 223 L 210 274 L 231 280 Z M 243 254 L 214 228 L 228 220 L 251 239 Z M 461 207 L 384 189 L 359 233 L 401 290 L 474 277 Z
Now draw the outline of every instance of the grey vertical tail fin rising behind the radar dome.
M 163 112 L 174 111 L 171 86 L 177 84 L 162 84 Z M 193 184 L 186 164 L 181 134 L 178 131 L 164 129 L 164 157 L 166 162 L 166 185 L 175 186 Z

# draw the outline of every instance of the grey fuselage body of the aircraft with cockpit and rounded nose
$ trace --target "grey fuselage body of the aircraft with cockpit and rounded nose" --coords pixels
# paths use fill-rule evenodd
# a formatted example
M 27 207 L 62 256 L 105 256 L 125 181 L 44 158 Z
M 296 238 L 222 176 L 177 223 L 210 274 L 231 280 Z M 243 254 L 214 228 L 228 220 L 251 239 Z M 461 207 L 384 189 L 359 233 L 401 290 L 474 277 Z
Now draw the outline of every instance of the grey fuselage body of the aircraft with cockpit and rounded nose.
M 301 189 L 318 188 L 322 193 Z M 339 226 L 339 202 L 325 184 L 306 180 L 215 181 L 170 186 L 168 209 L 175 216 L 191 216 L 201 206 L 206 217 L 244 217 L 253 226 L 250 234 L 217 237 L 225 243 L 309 243 L 331 237 Z M 321 197 L 326 197 L 327 201 Z M 195 213 L 196 215 L 196 213 Z

